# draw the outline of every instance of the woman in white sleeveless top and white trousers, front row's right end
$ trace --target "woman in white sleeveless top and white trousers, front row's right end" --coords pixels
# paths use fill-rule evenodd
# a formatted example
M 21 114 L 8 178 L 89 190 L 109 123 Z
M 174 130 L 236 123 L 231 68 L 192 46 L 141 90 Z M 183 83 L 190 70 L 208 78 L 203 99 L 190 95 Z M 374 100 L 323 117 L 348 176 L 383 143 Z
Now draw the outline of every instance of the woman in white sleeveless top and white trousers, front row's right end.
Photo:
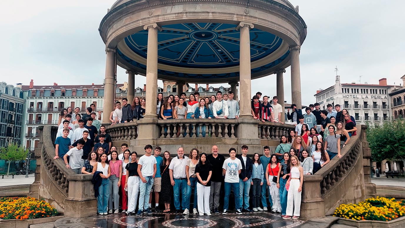
M 286 216 L 284 216 L 283 219 L 290 219 L 292 215 L 294 215 L 292 216 L 292 219 L 299 219 L 301 210 L 301 193 L 304 181 L 304 170 L 303 167 L 300 166 L 300 162 L 295 155 L 291 157 L 290 167 L 290 179 L 288 179 L 286 183 L 286 186 L 288 186 L 289 188 L 287 196 L 287 211 Z

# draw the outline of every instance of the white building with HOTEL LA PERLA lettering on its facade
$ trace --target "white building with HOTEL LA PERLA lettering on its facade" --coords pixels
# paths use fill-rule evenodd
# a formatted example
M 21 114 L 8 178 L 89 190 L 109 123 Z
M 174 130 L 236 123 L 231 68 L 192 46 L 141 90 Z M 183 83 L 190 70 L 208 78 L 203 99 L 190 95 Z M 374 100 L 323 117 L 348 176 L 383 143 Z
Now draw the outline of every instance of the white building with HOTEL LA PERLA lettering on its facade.
M 391 118 L 389 93 L 394 85 L 387 85 L 387 79 L 379 80 L 379 84 L 341 83 L 336 76 L 335 85 L 318 90 L 314 95 L 321 109 L 327 104 L 340 104 L 356 120 L 356 124 L 381 124 Z

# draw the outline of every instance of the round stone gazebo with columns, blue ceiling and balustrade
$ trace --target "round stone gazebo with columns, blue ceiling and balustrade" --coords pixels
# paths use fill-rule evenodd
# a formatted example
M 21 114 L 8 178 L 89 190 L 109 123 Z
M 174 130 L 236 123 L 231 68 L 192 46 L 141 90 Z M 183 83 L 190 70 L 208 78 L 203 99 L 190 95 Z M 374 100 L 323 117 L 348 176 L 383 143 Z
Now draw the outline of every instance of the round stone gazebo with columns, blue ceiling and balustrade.
M 292 102 L 301 107 L 299 51 L 307 26 L 298 7 L 287 0 L 117 0 L 99 31 L 107 53 L 104 113 L 113 111 L 117 64 L 127 69 L 130 100 L 134 75 L 146 76 L 145 118 L 109 127 L 113 142 L 128 142 L 139 151 L 145 144 L 166 145 L 163 149 L 171 151 L 179 145 L 206 150 L 213 144 L 226 151 L 229 145 L 243 144 L 259 149 L 277 145 L 292 129 L 254 120 L 250 108 L 251 79 L 273 73 L 283 104 L 283 72 L 288 66 Z M 239 83 L 240 118 L 158 120 L 158 79 L 177 82 L 178 93 L 186 82 L 229 83 L 233 88 Z M 109 122 L 109 115 L 103 122 Z M 196 131 L 201 125 L 207 126 L 205 138 L 201 127 Z

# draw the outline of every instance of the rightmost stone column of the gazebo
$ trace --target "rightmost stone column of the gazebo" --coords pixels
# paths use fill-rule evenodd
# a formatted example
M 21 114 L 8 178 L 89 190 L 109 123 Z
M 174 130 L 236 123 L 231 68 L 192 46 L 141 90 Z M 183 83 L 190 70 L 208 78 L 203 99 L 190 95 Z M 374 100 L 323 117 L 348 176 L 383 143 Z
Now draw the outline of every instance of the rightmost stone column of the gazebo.
M 290 46 L 291 56 L 291 104 L 301 109 L 300 46 Z

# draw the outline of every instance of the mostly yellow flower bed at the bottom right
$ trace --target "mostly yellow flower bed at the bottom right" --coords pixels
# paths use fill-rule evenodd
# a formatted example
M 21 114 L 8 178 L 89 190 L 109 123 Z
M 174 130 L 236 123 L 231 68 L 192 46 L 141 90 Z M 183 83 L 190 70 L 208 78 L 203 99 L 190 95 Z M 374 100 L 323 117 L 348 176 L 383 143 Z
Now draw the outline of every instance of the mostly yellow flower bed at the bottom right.
M 405 200 L 368 198 L 358 204 L 342 204 L 333 216 L 352 220 L 391 221 L 405 215 Z

